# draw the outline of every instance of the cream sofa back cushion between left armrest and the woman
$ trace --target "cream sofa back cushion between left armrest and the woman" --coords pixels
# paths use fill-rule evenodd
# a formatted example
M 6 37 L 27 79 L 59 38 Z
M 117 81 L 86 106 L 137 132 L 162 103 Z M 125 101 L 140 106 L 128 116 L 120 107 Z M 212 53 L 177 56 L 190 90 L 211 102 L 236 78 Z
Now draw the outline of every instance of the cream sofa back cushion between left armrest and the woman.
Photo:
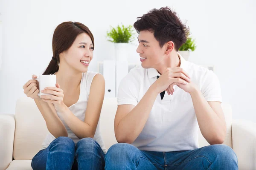
M 48 132 L 43 116 L 34 99 L 17 100 L 15 114 L 14 159 L 32 159 Z

